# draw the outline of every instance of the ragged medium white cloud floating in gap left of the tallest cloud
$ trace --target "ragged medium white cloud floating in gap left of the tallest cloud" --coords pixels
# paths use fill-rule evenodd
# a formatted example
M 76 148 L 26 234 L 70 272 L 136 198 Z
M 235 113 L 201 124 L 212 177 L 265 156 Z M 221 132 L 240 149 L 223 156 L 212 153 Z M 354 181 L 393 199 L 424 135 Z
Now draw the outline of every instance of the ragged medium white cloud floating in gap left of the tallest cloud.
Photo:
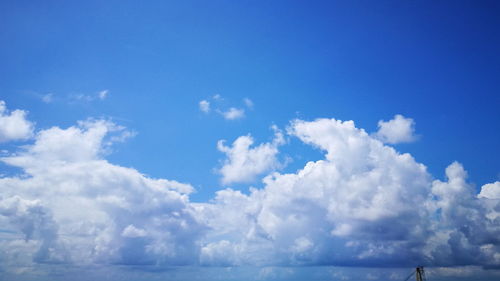
M 254 139 L 250 135 L 237 138 L 231 146 L 226 146 L 224 140 L 217 143 L 217 149 L 227 156 L 219 169 L 222 183 L 251 182 L 257 175 L 282 166 L 277 154 L 278 147 L 284 143 L 284 137 L 276 127 L 273 129 L 274 140 L 256 147 L 251 147 Z

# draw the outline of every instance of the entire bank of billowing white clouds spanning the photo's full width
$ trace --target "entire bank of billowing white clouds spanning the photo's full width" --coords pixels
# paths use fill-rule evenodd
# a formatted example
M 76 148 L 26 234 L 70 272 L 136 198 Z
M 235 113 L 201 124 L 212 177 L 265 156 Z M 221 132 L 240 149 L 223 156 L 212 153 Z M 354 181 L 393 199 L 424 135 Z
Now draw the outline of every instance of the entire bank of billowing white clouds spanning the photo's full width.
M 0 259 L 15 261 L 1 266 L 500 266 L 498 183 L 477 195 L 459 163 L 446 181 L 433 180 L 411 155 L 352 121 L 295 120 L 288 133 L 324 159 L 273 172 L 248 195 L 225 189 L 192 203 L 189 184 L 104 159 L 126 134 L 120 126 L 88 120 L 39 131 L 32 145 L 1 159 L 24 171 L 0 178 Z M 249 137 L 220 144 L 223 167 L 269 167 L 282 138 L 255 148 Z M 234 174 L 226 180 L 248 176 Z

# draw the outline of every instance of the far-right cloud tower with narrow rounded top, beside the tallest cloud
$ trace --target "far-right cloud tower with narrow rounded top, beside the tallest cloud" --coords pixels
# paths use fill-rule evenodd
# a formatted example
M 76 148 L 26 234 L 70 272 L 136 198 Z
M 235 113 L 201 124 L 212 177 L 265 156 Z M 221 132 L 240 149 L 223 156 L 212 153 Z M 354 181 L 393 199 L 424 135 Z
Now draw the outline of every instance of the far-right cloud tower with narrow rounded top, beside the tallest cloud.
M 499 252 L 500 244 L 493 242 L 497 240 L 494 237 L 499 237 L 500 225 L 487 219 L 488 205 L 477 198 L 460 163 L 448 166 L 446 177 L 447 181 L 432 183 L 432 195 L 436 200 L 429 201 L 428 206 L 439 220 L 431 221 L 428 249 L 424 250 L 426 255 L 444 265 L 500 265 L 500 257 L 494 255 Z

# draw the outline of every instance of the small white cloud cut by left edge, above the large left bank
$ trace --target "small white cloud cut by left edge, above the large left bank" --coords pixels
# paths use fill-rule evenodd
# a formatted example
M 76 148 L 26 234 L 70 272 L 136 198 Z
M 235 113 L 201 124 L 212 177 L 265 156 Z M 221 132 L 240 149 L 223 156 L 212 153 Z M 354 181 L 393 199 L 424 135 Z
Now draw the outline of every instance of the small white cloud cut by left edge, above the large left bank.
M 27 140 L 33 136 L 33 123 L 26 119 L 27 112 L 16 109 L 9 113 L 0 100 L 0 142 Z

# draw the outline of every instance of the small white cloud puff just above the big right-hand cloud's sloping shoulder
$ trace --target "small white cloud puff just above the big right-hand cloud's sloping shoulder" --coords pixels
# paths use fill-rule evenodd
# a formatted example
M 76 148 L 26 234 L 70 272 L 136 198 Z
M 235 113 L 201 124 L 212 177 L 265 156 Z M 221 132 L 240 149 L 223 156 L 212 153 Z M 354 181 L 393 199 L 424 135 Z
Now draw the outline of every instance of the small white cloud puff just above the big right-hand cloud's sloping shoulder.
M 413 142 L 417 139 L 415 136 L 415 121 L 400 114 L 395 115 L 394 119 L 387 122 L 378 121 L 378 128 L 375 137 L 385 143 Z

